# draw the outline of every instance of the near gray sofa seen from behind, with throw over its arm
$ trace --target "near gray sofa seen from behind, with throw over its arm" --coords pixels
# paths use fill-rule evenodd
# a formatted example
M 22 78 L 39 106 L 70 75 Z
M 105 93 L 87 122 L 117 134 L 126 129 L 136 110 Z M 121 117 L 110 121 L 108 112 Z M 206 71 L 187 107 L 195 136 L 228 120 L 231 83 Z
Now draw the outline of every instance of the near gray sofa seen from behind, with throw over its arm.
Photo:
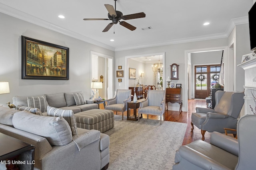
M 54 133 L 53 129 L 58 130 Z M 35 170 L 107 169 L 109 136 L 96 130 L 77 130 L 78 135 L 72 136 L 63 117 L 40 116 L 0 106 L 0 133 L 35 146 Z

